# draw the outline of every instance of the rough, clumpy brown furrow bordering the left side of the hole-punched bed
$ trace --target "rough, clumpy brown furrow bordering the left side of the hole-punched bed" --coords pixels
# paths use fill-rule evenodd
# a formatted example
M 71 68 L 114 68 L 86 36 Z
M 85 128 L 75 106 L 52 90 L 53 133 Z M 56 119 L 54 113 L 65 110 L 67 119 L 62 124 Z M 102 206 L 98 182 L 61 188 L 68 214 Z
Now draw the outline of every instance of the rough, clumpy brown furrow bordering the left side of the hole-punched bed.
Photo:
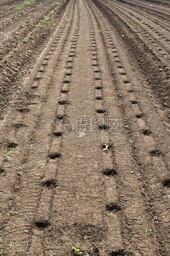
M 60 7 L 59 16 L 54 20 L 56 25 L 59 24 L 61 17 L 64 15 L 64 8 L 66 5 L 67 2 L 64 2 L 64 4 Z M 46 15 L 45 11 L 44 14 Z M 43 29 L 39 27 L 34 29 L 34 33 L 36 33 L 34 38 L 31 38 L 31 40 L 27 41 L 26 37 L 25 41 L 23 41 L 21 44 L 18 43 L 16 49 L 11 50 L 9 55 L 6 55 L 6 58 L 1 62 L 0 93 L 1 98 L 3 99 L 3 101 L 0 102 L 1 119 L 7 111 L 7 107 L 9 106 L 10 101 L 14 98 L 15 92 L 17 90 L 16 88 L 22 87 L 24 80 L 23 78 L 28 76 L 28 73 L 31 71 L 30 66 L 34 66 L 36 55 L 38 56 L 38 54 L 42 51 L 44 48 L 44 43 L 48 42 L 46 36 L 52 36 L 52 32 L 55 31 L 55 26 L 53 26 L 53 28 L 51 28 L 51 26 L 53 26 L 52 17 L 48 21 L 48 24 L 43 27 Z M 31 35 L 31 33 L 32 32 L 30 32 L 29 35 Z M 26 49 L 26 47 L 28 49 Z

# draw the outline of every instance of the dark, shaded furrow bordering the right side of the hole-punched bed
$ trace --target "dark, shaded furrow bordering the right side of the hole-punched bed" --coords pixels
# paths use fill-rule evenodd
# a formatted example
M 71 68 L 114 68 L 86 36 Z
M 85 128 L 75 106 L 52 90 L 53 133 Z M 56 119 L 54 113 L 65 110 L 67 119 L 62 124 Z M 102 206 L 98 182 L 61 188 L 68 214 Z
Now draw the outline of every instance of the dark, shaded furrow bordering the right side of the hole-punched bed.
M 94 3 L 96 2 L 94 1 Z M 136 62 L 137 66 L 140 66 L 140 69 L 142 69 L 143 76 L 149 82 L 149 89 L 156 93 L 160 98 L 160 101 L 165 102 L 165 105 L 168 106 L 169 101 L 166 100 L 168 98 L 165 97 L 169 97 L 167 96 L 169 95 L 169 92 L 167 93 L 167 91 L 170 70 L 167 64 L 163 63 L 162 60 L 157 57 L 154 50 L 150 48 L 149 45 L 142 40 L 140 35 L 136 34 L 132 27 L 118 14 L 109 7 L 106 8 L 101 2 L 97 2 L 96 5 L 103 8 L 103 13 L 106 14 L 106 17 L 108 17 L 111 24 L 113 24 L 113 27 L 119 36 L 120 31 L 122 31 L 124 35 L 122 40 L 126 45 L 126 50 L 130 51 L 131 59 Z M 163 69 L 163 73 L 160 69 Z

